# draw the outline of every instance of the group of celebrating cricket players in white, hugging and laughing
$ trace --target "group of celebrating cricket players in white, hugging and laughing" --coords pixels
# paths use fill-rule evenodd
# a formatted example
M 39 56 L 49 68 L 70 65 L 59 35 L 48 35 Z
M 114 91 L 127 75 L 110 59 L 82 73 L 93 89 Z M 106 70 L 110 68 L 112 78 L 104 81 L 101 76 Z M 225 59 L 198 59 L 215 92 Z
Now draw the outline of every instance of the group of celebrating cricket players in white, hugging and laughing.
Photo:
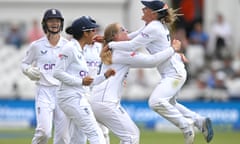
M 47 144 L 53 128 L 54 144 L 110 144 L 109 131 L 121 144 L 139 144 L 139 128 L 121 105 L 122 89 L 130 68 L 152 67 L 161 80 L 149 96 L 149 107 L 182 131 L 185 144 L 194 143 L 194 127 L 207 143 L 212 140 L 211 120 L 177 102 L 187 77 L 186 58 L 168 26 L 178 14 L 163 1 L 141 3 L 143 27 L 128 33 L 120 23 L 109 24 L 101 42 L 96 41 L 99 25 L 90 16 L 65 29 L 71 35 L 67 40 L 61 36 L 61 12 L 46 10 L 45 36 L 30 44 L 22 60 L 23 73 L 37 84 L 32 144 Z M 140 47 L 150 54 L 139 52 Z

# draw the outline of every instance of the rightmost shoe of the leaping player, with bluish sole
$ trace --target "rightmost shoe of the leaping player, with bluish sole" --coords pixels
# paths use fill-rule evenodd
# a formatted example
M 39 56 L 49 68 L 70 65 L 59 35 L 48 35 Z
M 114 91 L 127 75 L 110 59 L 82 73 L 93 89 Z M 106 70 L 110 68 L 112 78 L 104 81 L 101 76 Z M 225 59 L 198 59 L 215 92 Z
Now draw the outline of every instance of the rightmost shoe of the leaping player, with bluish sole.
M 205 140 L 207 141 L 207 143 L 209 143 L 214 136 L 212 122 L 211 122 L 210 118 L 204 119 L 202 133 L 203 133 L 203 136 L 204 136 Z

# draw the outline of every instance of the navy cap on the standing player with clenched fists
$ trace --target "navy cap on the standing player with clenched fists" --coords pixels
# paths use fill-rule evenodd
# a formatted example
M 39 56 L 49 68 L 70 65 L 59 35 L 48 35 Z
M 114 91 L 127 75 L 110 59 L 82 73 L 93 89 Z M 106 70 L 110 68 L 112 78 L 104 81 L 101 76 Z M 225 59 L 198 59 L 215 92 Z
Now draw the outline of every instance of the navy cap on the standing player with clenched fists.
M 76 19 L 71 26 L 66 28 L 66 33 L 74 35 L 97 28 L 98 25 L 92 22 L 87 16 Z

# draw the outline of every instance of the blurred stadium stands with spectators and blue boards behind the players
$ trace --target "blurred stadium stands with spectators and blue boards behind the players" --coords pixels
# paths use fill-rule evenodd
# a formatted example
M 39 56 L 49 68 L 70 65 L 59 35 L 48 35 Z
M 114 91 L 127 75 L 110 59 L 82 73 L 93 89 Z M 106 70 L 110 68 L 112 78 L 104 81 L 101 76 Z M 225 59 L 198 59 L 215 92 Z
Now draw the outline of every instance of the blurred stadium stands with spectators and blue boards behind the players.
M 21 134 L 25 132 L 26 137 L 31 139 L 32 128 L 36 124 L 35 84 L 27 79 L 20 69 L 21 59 L 30 41 L 28 35 L 33 22 L 37 21 L 41 29 L 40 22 L 44 11 L 48 8 L 57 8 L 63 13 L 65 27 L 76 17 L 89 15 L 100 24 L 100 33 L 107 24 L 113 22 L 122 23 L 129 31 L 134 31 L 143 24 L 141 21 L 143 6 L 139 1 L 0 0 L 0 143 L 7 143 L 1 142 L 1 139 L 9 135 L 10 139 L 17 137 L 12 130 Z M 179 93 L 179 101 L 190 109 L 209 116 L 216 132 L 231 131 L 239 134 L 240 1 L 165 0 L 165 2 L 170 7 L 180 7 L 180 13 L 184 14 L 173 27 L 173 37 L 182 41 L 184 53 L 190 60 L 190 63 L 186 64 L 189 78 Z M 221 49 L 218 50 L 213 30 L 219 14 L 228 27 L 220 28 L 219 33 L 226 36 L 223 36 L 224 44 L 220 45 Z M 204 43 L 191 39 L 197 22 L 200 22 L 202 32 L 207 35 Z M 63 35 L 68 37 L 65 32 Z M 217 55 L 218 51 L 222 52 Z M 155 69 L 130 70 L 122 104 L 143 129 L 161 133 L 179 132 L 147 106 L 147 97 L 159 79 Z M 30 130 L 26 130 L 28 128 Z M 22 136 L 25 137 L 24 134 Z M 233 140 L 236 139 L 234 136 Z

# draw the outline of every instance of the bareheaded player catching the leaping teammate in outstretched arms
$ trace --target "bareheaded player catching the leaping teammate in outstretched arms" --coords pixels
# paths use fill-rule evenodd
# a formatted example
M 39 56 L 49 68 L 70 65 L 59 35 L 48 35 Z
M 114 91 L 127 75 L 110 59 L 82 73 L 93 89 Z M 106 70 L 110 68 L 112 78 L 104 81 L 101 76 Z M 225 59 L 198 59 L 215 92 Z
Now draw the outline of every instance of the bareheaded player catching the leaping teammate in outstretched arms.
M 127 31 L 120 24 L 110 24 L 104 33 L 105 45 L 110 41 L 128 40 Z M 176 44 L 175 44 L 176 43 Z M 174 49 L 180 49 L 181 44 L 175 41 Z M 173 48 L 144 55 L 138 52 L 114 50 L 101 53 L 102 71 L 113 68 L 117 72 L 107 81 L 93 87 L 93 95 L 89 98 L 96 119 L 107 126 L 120 138 L 121 144 L 139 144 L 139 129 L 128 113 L 121 106 L 123 81 L 126 79 L 130 67 L 155 67 L 169 59 L 174 54 Z

